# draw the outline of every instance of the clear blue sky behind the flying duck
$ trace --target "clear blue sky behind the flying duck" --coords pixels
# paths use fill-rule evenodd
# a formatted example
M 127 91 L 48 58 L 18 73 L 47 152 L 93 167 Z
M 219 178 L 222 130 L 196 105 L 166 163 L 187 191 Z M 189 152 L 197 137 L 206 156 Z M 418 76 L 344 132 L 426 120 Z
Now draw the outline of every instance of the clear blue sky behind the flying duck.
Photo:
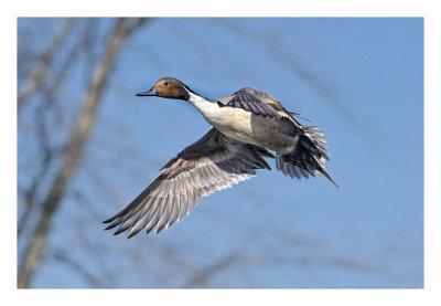
M 41 21 L 23 20 L 19 28 L 28 22 Z M 245 254 L 214 276 L 213 287 L 422 287 L 422 33 L 417 18 L 158 19 L 139 31 L 120 54 L 72 186 L 94 199 L 98 211 L 87 221 L 87 234 L 119 250 L 108 258 L 126 272 L 115 286 L 154 286 L 142 273 L 149 264 L 164 264 L 154 247 L 168 245 L 201 266 L 233 251 Z M 83 76 L 73 73 L 69 101 L 80 99 Z M 270 160 L 272 171 L 203 198 L 160 235 L 127 241 L 103 232 L 100 221 L 209 128 L 185 102 L 135 96 L 163 76 L 209 98 L 245 86 L 271 93 L 325 133 L 329 173 L 341 188 L 324 178 L 292 180 Z M 122 155 L 125 149 L 131 154 Z M 100 162 L 90 165 L 97 157 Z M 106 178 L 114 202 L 92 190 L 88 167 Z M 53 245 L 77 243 L 66 224 L 80 213 L 78 203 L 64 201 Z M 73 256 L 87 266 L 87 252 L 74 246 Z M 123 252 L 146 254 L 146 266 L 135 266 Z M 354 267 L 343 266 L 342 258 Z M 165 286 L 182 285 L 176 278 Z M 49 261 L 34 286 L 87 284 Z

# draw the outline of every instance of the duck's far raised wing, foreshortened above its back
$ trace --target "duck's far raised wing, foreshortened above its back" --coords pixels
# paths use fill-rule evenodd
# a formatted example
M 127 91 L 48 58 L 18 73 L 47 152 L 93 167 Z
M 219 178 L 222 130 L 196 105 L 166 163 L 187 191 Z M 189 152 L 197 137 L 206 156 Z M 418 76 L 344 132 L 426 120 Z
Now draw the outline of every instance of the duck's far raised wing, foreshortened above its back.
M 263 117 L 290 118 L 287 109 L 277 98 L 266 92 L 250 87 L 241 88 L 233 95 L 220 98 L 219 102 L 225 106 L 243 108 Z

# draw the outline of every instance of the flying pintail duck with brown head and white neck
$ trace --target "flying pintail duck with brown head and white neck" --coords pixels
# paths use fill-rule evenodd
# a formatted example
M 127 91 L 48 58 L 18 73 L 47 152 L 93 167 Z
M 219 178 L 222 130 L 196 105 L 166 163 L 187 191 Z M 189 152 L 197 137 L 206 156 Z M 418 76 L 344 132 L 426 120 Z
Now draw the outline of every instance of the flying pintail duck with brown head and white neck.
M 205 136 L 173 157 L 161 173 L 119 213 L 104 221 L 115 234 L 131 228 L 128 238 L 146 229 L 159 233 L 189 214 L 202 197 L 271 170 L 263 157 L 276 158 L 276 167 L 291 178 L 326 173 L 326 140 L 316 126 L 295 119 L 272 95 L 255 88 L 219 99 L 196 94 L 181 81 L 159 80 L 137 96 L 183 99 L 196 107 L 212 125 Z M 268 150 L 276 151 L 273 156 Z

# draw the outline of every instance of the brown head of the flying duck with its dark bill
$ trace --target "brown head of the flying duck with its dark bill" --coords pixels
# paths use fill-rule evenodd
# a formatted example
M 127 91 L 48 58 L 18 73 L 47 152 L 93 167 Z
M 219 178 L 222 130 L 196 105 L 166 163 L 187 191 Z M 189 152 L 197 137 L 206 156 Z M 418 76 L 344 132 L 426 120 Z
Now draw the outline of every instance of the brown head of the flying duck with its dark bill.
M 159 96 L 187 101 L 190 98 L 189 89 L 181 81 L 173 77 L 164 77 L 158 80 L 150 91 L 138 93 L 137 96 Z

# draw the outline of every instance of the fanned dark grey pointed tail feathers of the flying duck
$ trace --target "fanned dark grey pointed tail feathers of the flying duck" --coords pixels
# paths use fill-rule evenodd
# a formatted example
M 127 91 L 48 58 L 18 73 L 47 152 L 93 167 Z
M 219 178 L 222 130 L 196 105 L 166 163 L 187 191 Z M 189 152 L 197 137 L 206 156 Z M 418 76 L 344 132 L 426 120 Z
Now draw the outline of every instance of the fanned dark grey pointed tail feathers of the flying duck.
M 327 175 L 325 161 L 330 160 L 326 139 L 316 126 L 304 126 L 299 124 L 299 143 L 295 149 L 288 155 L 276 155 L 276 168 L 291 178 L 306 179 L 309 175 L 315 177 L 316 173 L 323 175 L 335 187 L 338 186 Z

